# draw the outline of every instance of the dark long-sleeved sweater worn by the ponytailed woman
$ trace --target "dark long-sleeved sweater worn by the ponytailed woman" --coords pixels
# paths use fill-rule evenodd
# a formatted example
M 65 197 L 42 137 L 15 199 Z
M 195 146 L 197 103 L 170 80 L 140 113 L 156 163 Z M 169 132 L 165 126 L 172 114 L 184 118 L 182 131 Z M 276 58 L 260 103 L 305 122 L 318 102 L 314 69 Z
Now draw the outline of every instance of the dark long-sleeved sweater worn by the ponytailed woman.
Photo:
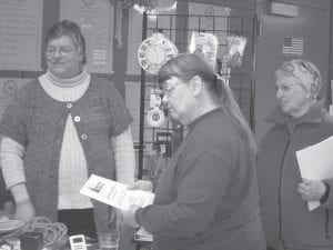
M 263 250 L 254 157 L 221 109 L 190 124 L 137 220 L 154 250 Z

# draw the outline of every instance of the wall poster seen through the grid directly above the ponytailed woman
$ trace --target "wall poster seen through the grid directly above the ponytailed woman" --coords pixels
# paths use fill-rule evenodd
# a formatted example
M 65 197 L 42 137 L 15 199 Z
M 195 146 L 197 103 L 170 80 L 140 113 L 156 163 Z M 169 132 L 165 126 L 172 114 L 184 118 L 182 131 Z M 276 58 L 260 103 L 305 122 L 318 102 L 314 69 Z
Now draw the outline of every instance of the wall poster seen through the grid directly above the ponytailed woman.
M 228 48 L 230 8 L 204 3 L 189 2 L 188 43 L 192 31 L 214 33 L 219 40 L 218 58 L 223 58 Z

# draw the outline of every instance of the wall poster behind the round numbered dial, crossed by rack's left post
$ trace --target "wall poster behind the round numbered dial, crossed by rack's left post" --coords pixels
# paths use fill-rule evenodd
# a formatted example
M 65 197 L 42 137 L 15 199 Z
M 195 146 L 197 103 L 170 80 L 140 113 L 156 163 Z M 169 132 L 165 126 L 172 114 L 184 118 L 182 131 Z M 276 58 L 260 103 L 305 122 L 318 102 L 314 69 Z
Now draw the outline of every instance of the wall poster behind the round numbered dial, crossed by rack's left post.
M 175 12 L 176 10 L 172 9 L 161 16 L 148 16 L 147 38 L 151 37 L 153 31 L 160 31 L 165 38 L 175 42 Z M 134 8 L 129 10 L 127 74 L 141 74 L 137 53 L 142 42 L 142 13 Z

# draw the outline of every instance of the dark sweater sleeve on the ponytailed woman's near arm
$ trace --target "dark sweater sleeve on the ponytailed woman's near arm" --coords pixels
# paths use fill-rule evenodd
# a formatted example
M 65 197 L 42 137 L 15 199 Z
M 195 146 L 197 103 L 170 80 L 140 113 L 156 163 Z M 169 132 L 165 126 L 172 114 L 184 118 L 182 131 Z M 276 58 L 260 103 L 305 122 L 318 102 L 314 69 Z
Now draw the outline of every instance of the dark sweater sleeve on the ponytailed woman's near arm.
M 212 222 L 230 183 L 228 154 L 204 146 L 193 149 L 181 161 L 176 199 L 169 204 L 139 209 L 138 222 L 152 234 L 193 237 Z

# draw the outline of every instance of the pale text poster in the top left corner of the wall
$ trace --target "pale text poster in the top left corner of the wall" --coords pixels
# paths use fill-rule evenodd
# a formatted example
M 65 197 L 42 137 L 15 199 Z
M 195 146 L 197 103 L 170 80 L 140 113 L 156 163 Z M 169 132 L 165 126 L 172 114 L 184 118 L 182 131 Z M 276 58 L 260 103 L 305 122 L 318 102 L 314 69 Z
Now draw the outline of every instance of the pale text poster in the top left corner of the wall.
M 0 1 L 0 69 L 41 71 L 43 0 Z

